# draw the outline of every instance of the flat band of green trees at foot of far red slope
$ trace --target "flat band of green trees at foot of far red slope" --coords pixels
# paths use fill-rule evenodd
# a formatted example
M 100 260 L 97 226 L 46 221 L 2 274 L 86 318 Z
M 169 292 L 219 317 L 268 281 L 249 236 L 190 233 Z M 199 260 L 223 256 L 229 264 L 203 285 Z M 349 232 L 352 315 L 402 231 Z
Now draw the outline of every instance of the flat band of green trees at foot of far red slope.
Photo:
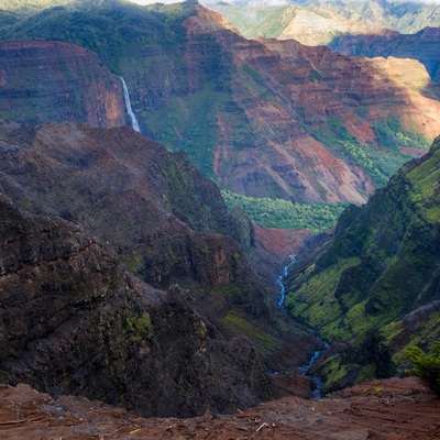
M 267 228 L 308 229 L 322 232 L 333 227 L 345 205 L 293 204 L 284 199 L 254 198 L 221 191 L 229 208 L 240 207 L 255 222 Z

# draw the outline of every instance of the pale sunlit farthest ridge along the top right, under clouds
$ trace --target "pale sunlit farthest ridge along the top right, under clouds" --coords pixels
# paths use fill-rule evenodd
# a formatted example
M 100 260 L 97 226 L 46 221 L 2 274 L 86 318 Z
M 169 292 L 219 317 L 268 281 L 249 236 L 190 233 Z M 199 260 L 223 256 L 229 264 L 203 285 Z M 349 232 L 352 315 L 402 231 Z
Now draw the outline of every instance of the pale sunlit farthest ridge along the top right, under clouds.
M 246 37 L 295 38 L 308 45 L 328 44 L 341 34 L 365 35 L 384 29 L 414 34 L 440 26 L 439 6 L 433 1 L 290 0 L 273 7 L 210 0 L 207 4 Z

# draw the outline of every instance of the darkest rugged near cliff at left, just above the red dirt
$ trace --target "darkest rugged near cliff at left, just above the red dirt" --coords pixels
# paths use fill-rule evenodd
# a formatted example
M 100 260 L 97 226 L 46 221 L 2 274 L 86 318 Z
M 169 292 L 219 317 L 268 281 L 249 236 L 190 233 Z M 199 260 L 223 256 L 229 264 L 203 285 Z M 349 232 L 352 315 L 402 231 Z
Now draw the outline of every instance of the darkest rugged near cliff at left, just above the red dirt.
M 2 196 L 0 232 L 2 382 L 145 416 L 231 411 L 271 395 L 246 340 L 226 341 L 189 295 L 145 285 L 80 228 Z

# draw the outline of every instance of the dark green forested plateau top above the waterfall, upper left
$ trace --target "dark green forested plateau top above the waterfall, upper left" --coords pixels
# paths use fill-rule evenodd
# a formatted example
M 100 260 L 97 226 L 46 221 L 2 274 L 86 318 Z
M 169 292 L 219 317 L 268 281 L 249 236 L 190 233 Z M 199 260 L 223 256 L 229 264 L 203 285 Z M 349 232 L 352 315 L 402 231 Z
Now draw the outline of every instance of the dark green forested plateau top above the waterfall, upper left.
M 160 47 L 172 51 L 176 42 L 184 40 L 182 22 L 195 13 L 194 1 L 143 8 L 117 0 L 58 0 L 51 1 L 42 12 L 30 14 L 34 9 L 41 11 L 46 3 L 0 12 L 0 23 L 4 14 L 9 16 L 13 12 L 14 18 L 13 23 L 4 26 L 2 38 L 58 40 L 77 44 L 100 55 L 118 75 L 125 73 L 128 61 L 131 68 L 135 67 L 134 58 L 146 45 L 152 51 Z

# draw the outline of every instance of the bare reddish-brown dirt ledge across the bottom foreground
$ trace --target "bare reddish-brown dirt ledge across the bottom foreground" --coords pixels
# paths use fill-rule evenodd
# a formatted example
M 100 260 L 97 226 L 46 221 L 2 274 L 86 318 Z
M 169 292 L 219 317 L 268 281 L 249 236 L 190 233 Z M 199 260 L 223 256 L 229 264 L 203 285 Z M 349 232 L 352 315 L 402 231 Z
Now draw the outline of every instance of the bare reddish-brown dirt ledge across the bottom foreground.
M 28 385 L 0 387 L 0 439 L 440 439 L 440 399 L 416 378 L 372 381 L 326 399 L 284 397 L 230 416 L 139 418 Z

